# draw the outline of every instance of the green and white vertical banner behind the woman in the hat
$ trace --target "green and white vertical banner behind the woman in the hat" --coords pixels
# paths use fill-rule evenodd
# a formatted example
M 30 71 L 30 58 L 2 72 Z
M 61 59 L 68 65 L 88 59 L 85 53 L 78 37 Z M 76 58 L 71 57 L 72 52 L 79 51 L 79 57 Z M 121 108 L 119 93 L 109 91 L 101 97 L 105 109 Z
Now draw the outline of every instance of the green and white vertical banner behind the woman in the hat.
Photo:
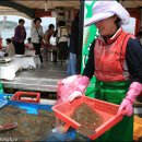
M 95 4 L 95 1 L 87 1 L 84 2 L 84 21 L 92 17 L 92 8 Z M 95 25 L 91 25 L 84 27 L 83 29 L 83 50 L 82 50 L 82 72 L 85 68 L 86 61 L 88 59 L 88 52 L 92 42 L 98 36 L 98 29 Z M 95 90 L 95 76 L 90 82 L 90 85 L 86 90 L 86 96 L 94 97 L 94 90 Z

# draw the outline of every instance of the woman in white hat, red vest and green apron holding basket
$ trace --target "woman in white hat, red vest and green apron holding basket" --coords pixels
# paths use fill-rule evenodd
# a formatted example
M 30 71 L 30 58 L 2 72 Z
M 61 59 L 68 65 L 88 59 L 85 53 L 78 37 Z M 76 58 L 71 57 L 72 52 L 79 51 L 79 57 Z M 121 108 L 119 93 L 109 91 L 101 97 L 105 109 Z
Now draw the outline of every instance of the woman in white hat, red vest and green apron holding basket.
M 117 1 L 96 1 L 93 16 L 85 21 L 85 26 L 95 24 L 100 35 L 91 47 L 82 80 L 68 99 L 82 96 L 95 75 L 95 98 L 119 105 L 118 115 L 123 115 L 97 142 L 132 142 L 133 139 L 132 106 L 142 92 L 142 47 L 134 35 L 122 28 L 129 17 Z

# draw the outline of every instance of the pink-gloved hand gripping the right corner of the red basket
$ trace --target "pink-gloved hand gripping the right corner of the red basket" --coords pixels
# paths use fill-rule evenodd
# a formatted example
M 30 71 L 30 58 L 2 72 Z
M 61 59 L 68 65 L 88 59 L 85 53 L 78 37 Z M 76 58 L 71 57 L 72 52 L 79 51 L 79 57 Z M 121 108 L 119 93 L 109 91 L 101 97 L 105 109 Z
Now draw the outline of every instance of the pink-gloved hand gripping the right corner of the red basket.
M 133 114 L 133 107 L 131 100 L 125 98 L 119 106 L 118 113 L 122 113 L 125 116 L 131 116 Z

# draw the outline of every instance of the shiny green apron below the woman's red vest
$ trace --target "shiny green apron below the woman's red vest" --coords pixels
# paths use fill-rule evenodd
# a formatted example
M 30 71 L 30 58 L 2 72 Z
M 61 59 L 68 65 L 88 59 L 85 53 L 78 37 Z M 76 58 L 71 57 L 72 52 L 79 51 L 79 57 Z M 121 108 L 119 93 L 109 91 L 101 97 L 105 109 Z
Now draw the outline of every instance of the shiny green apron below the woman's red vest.
M 95 98 L 120 104 L 126 97 L 130 83 L 125 82 L 100 82 L 96 81 L 95 85 Z M 133 116 L 123 117 L 123 119 L 105 132 L 102 137 L 95 141 L 109 142 L 109 141 L 132 141 L 133 138 Z

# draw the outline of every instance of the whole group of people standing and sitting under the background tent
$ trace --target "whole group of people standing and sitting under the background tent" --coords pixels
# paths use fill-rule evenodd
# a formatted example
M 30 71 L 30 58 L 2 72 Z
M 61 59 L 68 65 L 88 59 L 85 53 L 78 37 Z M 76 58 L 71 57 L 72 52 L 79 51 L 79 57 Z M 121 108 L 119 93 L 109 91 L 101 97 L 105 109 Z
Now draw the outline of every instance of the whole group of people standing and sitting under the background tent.
M 58 21 L 57 28 L 54 24 L 49 24 L 48 28 L 44 32 L 42 19 L 35 17 L 31 27 L 31 37 L 27 38 L 26 29 L 24 27 L 25 21 L 20 19 L 19 25 L 14 29 L 14 36 L 11 39 L 5 39 L 9 48 L 5 47 L 3 50 L 5 52 L 1 55 L 12 57 L 14 55 L 24 55 L 25 49 L 35 50 L 35 55 L 39 56 L 40 62 L 43 63 L 48 60 L 48 55 L 52 54 L 54 62 L 59 61 L 63 64 L 69 60 L 67 69 L 68 75 L 76 74 L 75 67 L 79 39 L 78 21 L 79 14 L 72 22 L 71 27 L 67 26 L 64 21 Z M 56 45 L 51 44 L 51 37 L 56 37 Z M 25 43 L 26 38 L 27 43 Z

